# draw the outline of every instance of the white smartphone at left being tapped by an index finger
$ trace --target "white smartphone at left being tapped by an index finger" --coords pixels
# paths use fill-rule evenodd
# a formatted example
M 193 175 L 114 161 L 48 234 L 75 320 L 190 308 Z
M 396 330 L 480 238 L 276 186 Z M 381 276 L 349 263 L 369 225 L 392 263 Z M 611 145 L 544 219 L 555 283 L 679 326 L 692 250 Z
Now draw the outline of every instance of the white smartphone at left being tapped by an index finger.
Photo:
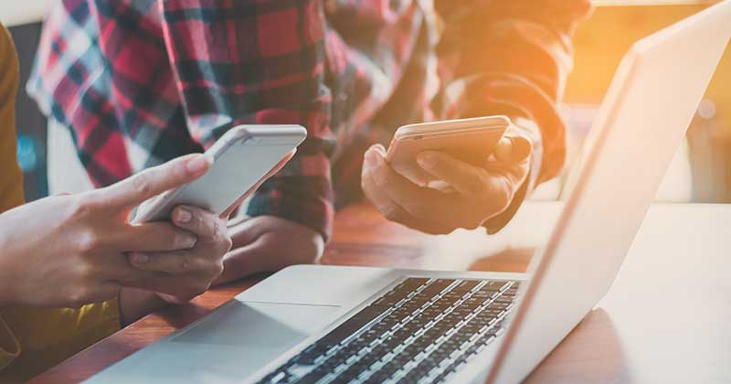
M 170 219 L 173 208 L 181 204 L 221 215 L 306 137 L 307 130 L 300 125 L 231 128 L 206 151 L 213 159 L 206 175 L 145 201 L 132 222 Z

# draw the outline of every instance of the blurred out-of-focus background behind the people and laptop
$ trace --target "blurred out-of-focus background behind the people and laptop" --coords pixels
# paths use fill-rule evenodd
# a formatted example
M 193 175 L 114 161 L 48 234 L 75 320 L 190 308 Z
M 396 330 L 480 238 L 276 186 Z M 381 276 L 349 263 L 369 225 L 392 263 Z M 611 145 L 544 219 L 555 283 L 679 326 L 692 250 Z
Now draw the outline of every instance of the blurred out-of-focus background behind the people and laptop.
M 19 51 L 21 84 L 25 84 L 31 69 L 48 1 L 53 0 L 0 2 L 0 21 L 9 27 Z M 567 170 L 571 169 L 586 138 L 614 70 L 631 44 L 716 1 L 595 0 L 594 3 L 597 5 L 594 15 L 579 27 L 574 39 L 575 67 L 564 98 L 570 122 Z M 46 120 L 23 90 L 18 93 L 16 112 L 18 159 L 26 174 L 26 198 L 30 201 L 48 195 Z M 532 198 L 556 199 L 565 177 L 540 187 Z M 657 199 L 662 202 L 731 202 L 729 49 L 716 69 Z

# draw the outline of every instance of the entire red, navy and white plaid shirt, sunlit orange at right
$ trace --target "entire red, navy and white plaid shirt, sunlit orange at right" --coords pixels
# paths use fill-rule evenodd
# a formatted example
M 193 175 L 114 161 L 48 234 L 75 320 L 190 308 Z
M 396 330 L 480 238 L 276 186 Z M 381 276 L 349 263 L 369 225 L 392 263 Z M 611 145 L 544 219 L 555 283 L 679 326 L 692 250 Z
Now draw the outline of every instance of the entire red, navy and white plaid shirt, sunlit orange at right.
M 556 103 L 570 36 L 589 8 L 588 0 L 62 0 L 46 19 L 27 89 L 71 129 L 100 187 L 203 151 L 240 123 L 302 124 L 307 140 L 249 214 L 327 237 L 335 207 L 360 197 L 365 148 L 387 144 L 406 123 L 523 117 L 537 149 L 524 190 L 556 176 L 565 154 Z

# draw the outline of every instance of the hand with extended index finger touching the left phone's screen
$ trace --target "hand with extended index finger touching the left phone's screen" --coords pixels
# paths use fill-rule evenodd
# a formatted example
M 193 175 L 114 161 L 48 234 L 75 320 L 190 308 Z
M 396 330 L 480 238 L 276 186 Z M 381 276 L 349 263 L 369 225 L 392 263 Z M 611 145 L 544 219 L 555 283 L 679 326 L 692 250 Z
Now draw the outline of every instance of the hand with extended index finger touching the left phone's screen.
M 170 223 L 132 225 L 132 208 L 195 180 L 210 160 L 188 155 L 111 187 L 47 197 L 0 215 L 0 304 L 77 307 L 116 296 L 122 281 L 154 277 L 129 251 L 177 251 L 196 236 Z

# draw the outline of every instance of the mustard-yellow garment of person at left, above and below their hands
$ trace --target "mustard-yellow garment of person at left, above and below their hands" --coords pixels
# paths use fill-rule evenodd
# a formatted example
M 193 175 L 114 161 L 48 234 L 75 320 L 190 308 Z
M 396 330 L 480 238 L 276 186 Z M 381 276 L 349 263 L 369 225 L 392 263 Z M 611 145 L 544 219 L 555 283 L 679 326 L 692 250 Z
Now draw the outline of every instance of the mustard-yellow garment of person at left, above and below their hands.
M 0 213 L 23 204 L 16 161 L 17 55 L 0 26 Z M 120 328 L 117 299 L 79 309 L 10 306 L 0 310 L 0 383 L 22 382 Z

